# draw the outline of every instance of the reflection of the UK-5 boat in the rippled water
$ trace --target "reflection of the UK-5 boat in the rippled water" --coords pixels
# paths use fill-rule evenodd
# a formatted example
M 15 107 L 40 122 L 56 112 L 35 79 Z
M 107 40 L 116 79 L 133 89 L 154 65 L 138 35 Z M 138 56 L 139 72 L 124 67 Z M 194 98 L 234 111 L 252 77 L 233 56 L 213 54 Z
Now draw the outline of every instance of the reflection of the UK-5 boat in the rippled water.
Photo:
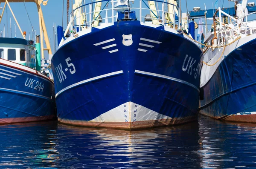
M 64 137 L 58 140 L 60 159 L 77 158 L 76 163 L 70 160 L 59 164 L 90 169 L 198 169 L 198 131 L 197 122 L 146 131 L 59 125 L 57 132 Z

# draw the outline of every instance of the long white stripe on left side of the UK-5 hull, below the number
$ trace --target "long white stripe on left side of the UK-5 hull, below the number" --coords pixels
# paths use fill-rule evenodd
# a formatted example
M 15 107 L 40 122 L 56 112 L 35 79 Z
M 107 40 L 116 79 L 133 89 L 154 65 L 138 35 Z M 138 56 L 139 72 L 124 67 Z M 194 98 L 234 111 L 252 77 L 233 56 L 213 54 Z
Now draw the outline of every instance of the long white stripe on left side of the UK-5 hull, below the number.
M 93 80 L 98 80 L 98 79 L 101 79 L 101 78 L 104 78 L 104 77 L 109 77 L 109 76 L 113 76 L 113 75 L 116 75 L 116 74 L 121 74 L 123 73 L 122 70 L 120 71 L 117 71 L 117 72 L 112 72 L 112 73 L 107 73 L 107 74 L 103 74 L 103 75 L 100 75 L 100 76 L 96 76 L 96 77 L 93 77 L 93 78 L 90 78 L 90 79 L 86 79 L 86 80 L 82 80 L 78 83 L 74 83 L 70 86 L 67 86 L 65 87 L 64 89 L 60 90 L 59 92 L 56 93 L 55 97 L 57 97 L 59 94 L 61 94 L 62 92 L 70 89 L 70 88 L 73 88 L 75 86 L 79 86 L 81 84 L 84 84 L 84 83 L 87 83 L 87 82 L 90 82 L 90 81 L 93 81 Z

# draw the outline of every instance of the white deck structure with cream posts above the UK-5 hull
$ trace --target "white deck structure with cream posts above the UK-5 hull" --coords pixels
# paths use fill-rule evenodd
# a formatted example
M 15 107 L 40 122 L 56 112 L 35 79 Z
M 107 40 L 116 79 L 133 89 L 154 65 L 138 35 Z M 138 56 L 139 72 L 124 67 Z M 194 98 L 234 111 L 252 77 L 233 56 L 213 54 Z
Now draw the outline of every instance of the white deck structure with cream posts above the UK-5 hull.
M 92 3 L 75 0 L 70 22 L 64 32 L 64 37 L 70 32 L 71 36 L 62 38 L 58 47 L 82 34 L 90 33 L 92 27 L 103 29 L 113 25 L 118 20 L 119 11 L 135 11 L 137 20 L 147 26 L 165 26 L 188 32 L 187 27 L 183 27 L 187 19 L 178 17 L 181 9 L 178 8 L 177 2 L 178 0 L 140 0 L 139 6 L 132 7 L 134 0 L 96 0 Z M 169 31 L 177 33 L 172 29 Z

